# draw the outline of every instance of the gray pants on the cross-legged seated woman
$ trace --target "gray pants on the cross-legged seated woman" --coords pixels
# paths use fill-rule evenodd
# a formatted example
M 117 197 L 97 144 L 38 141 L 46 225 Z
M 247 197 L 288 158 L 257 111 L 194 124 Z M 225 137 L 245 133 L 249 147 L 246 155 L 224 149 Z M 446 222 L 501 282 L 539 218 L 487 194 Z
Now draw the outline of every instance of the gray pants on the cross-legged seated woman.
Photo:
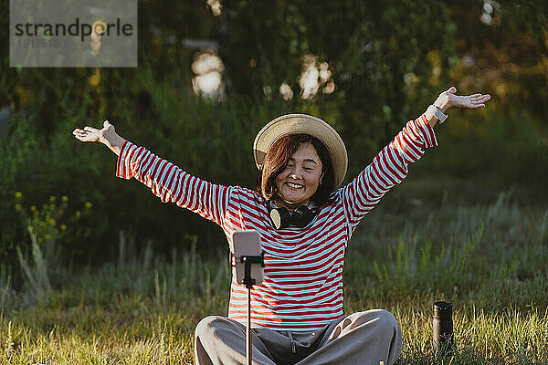
M 402 349 L 402 330 L 383 309 L 342 317 L 316 331 L 253 328 L 253 364 L 392 365 Z M 246 326 L 236 320 L 210 316 L 195 331 L 197 365 L 247 364 Z

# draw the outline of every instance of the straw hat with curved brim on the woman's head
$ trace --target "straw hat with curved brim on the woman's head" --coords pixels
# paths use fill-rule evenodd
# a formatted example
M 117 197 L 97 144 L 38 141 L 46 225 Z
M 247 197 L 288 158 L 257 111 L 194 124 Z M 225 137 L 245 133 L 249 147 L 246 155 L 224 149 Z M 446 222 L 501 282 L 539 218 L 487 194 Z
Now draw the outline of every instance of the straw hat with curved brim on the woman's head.
M 307 114 L 286 114 L 271 120 L 255 137 L 253 156 L 260 169 L 269 148 L 279 138 L 288 134 L 306 133 L 320 140 L 332 159 L 335 185 L 340 186 L 348 168 L 348 155 L 341 136 L 325 121 Z

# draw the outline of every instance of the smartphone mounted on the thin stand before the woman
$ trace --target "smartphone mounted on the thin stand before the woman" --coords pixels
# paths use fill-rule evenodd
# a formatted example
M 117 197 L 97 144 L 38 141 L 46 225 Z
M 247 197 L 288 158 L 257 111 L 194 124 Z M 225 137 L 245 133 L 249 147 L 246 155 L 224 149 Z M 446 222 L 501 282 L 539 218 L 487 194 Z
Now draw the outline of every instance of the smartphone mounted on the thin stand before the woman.
M 238 284 L 243 284 L 246 268 L 244 263 L 240 262 L 240 258 L 242 256 L 260 256 L 262 254 L 260 235 L 254 229 L 238 231 L 232 234 L 232 243 L 236 261 L 236 281 Z M 262 283 L 263 275 L 262 265 L 251 264 L 251 278 L 255 279 L 255 284 Z

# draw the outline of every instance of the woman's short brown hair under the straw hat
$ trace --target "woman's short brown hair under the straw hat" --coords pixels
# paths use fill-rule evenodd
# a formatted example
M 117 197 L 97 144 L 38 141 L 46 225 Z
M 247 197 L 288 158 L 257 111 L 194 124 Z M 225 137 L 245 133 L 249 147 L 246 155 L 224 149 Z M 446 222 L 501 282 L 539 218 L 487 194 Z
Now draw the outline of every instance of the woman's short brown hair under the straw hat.
M 276 177 L 283 172 L 300 146 L 306 143 L 311 143 L 316 153 L 318 153 L 321 160 L 321 172 L 323 173 L 321 184 L 311 196 L 311 201 L 319 206 L 324 203 L 334 203 L 334 199 L 330 199 L 330 195 L 335 189 L 335 175 L 331 155 L 320 140 L 304 133 L 288 134 L 275 141 L 272 147 L 269 148 L 265 161 L 257 174 L 257 192 L 263 198 L 274 202 L 280 199 Z

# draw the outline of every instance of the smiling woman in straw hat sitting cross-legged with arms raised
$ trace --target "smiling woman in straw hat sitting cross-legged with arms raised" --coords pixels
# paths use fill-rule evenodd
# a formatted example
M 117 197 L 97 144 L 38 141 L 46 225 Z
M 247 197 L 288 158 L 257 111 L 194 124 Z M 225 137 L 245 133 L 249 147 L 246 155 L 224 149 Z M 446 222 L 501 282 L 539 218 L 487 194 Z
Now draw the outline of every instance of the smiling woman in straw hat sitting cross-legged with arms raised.
M 353 181 L 335 190 L 347 168 L 344 143 L 323 120 L 290 114 L 272 120 L 254 143 L 257 190 L 195 178 L 122 139 L 109 121 L 73 131 L 118 157 L 116 175 L 136 178 L 162 201 L 219 224 L 232 234 L 256 229 L 265 251 L 264 281 L 252 290 L 253 360 L 257 364 L 393 364 L 402 347 L 394 316 L 383 309 L 343 316 L 342 265 L 356 224 L 406 177 L 407 165 L 437 146 L 433 127 L 452 108 L 478 109 L 489 95 L 450 88 Z M 195 330 L 197 364 L 246 363 L 246 289 L 233 275 L 228 318 L 204 318 Z

